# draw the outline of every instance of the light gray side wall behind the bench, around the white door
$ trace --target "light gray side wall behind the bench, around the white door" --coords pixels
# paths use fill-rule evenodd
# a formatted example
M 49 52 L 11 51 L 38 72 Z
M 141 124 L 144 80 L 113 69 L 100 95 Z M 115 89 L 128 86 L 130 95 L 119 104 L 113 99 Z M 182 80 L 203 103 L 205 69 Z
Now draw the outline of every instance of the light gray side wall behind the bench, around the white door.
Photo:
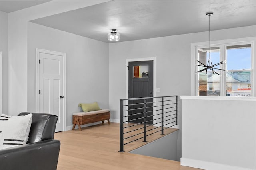
M 35 111 L 36 48 L 66 53 L 66 126 L 80 102 L 108 109 L 108 43 L 28 22 L 28 111 Z

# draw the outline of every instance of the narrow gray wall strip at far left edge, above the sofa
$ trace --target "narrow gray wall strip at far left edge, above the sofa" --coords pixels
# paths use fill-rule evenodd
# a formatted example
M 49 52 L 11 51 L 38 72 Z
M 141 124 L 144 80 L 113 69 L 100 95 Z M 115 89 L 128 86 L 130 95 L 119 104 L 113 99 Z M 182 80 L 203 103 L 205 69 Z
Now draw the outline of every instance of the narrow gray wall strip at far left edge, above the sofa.
M 8 114 L 8 14 L 0 11 L 0 51 L 3 52 L 3 113 Z

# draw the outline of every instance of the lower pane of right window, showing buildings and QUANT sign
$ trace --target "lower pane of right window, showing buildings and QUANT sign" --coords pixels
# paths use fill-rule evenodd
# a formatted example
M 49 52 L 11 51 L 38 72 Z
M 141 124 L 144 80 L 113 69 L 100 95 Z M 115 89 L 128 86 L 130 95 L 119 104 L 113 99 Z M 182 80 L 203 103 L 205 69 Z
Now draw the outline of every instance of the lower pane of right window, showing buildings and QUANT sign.
M 226 72 L 226 96 L 251 96 L 251 72 Z

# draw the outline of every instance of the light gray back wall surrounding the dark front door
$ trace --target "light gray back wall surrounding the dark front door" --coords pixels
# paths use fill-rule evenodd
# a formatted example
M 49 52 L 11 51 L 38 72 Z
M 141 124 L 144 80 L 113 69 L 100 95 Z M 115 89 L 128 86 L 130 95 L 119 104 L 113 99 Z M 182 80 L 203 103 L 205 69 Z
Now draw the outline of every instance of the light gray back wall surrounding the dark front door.
M 156 57 L 156 96 L 190 95 L 191 43 L 207 42 L 209 33 L 191 33 L 109 44 L 109 109 L 120 119 L 119 99 L 126 97 L 126 59 Z M 256 25 L 211 31 L 211 40 L 256 36 Z M 181 100 L 178 100 L 178 125 L 181 128 Z M 178 137 L 181 157 L 181 131 Z

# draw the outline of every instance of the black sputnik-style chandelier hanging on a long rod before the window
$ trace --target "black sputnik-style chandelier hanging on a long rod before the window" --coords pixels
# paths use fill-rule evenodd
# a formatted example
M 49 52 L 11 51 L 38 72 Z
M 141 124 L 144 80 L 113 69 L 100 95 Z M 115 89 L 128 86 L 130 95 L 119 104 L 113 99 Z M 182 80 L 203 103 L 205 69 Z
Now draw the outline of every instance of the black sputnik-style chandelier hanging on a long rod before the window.
M 207 70 L 211 70 L 212 74 L 216 73 L 216 74 L 220 75 L 218 72 L 215 72 L 214 69 L 222 70 L 222 71 L 226 71 L 226 70 L 220 69 L 220 68 L 214 68 L 214 67 L 218 66 L 220 64 L 226 63 L 226 61 L 221 61 L 220 63 L 212 65 L 212 62 L 211 62 L 211 44 L 210 44 L 211 43 L 210 16 L 213 15 L 213 12 L 207 12 L 206 15 L 209 16 L 209 60 L 207 62 L 207 66 L 197 60 L 198 61 L 198 66 L 205 67 L 205 68 L 203 68 L 202 70 L 196 71 L 196 73 L 206 70 L 205 74 L 207 74 Z M 199 65 L 199 63 L 202 64 L 202 65 Z

